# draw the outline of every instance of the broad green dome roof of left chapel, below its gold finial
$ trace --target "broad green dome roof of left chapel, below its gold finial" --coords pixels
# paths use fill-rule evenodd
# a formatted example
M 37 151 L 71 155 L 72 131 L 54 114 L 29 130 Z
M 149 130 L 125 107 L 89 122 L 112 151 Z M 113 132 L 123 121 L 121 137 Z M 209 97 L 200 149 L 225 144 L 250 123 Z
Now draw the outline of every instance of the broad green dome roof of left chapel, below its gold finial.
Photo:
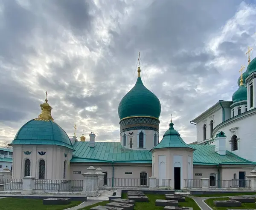
M 10 144 L 58 145 L 73 149 L 67 133 L 54 121 L 28 121 L 15 135 Z

